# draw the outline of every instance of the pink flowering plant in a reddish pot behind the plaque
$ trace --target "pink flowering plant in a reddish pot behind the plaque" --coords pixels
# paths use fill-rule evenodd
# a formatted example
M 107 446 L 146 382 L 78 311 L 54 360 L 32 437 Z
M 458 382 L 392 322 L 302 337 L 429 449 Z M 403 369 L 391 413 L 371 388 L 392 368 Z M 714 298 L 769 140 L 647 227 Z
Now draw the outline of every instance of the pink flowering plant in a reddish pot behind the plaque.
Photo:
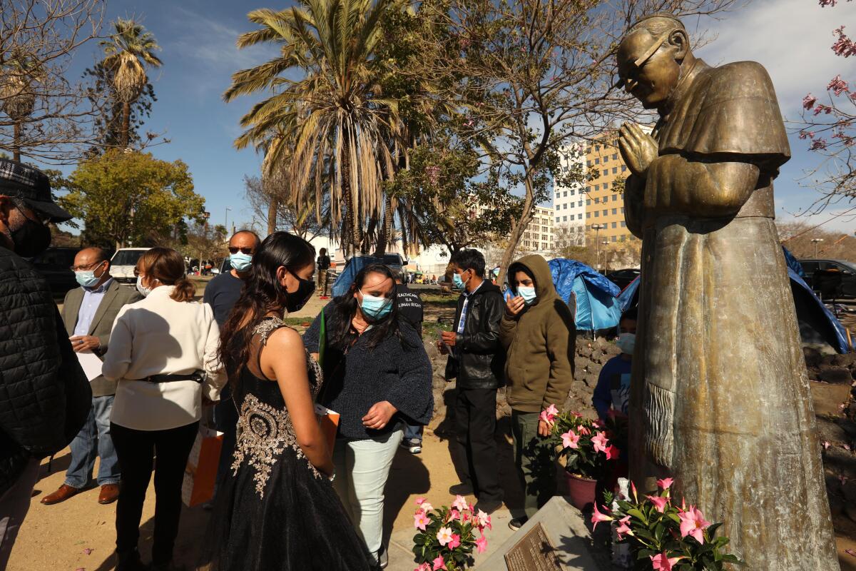
M 559 414 L 552 405 L 541 413 L 541 419 L 552 426 L 568 497 L 575 508 L 585 509 L 594 503 L 597 480 L 603 478 L 609 461 L 621 454 L 614 443 L 615 430 L 580 413 Z

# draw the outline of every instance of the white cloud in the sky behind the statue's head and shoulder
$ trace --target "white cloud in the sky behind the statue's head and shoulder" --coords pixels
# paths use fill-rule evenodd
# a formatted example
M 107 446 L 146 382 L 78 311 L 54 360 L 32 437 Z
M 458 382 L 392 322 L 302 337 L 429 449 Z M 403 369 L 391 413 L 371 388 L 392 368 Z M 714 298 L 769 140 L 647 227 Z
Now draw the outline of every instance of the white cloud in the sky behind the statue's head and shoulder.
M 835 74 L 853 74 L 853 62 L 829 49 L 836 27 L 856 24 L 853 12 L 847 3 L 821 8 L 811 0 L 758 0 L 722 21 L 699 22 L 717 38 L 697 55 L 711 65 L 760 62 L 776 86 L 782 113 L 794 120 L 806 93 L 822 95 Z

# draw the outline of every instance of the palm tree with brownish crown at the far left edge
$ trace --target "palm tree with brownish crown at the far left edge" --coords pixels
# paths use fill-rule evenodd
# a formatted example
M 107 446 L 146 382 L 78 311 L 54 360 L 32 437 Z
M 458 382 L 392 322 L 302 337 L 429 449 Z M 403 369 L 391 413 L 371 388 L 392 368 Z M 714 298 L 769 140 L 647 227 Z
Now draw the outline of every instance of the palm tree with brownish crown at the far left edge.
M 33 114 L 36 94 L 33 85 L 43 80 L 39 65 L 27 57 L 11 57 L 0 71 L 0 109 L 14 122 L 12 157 L 21 160 L 24 120 Z

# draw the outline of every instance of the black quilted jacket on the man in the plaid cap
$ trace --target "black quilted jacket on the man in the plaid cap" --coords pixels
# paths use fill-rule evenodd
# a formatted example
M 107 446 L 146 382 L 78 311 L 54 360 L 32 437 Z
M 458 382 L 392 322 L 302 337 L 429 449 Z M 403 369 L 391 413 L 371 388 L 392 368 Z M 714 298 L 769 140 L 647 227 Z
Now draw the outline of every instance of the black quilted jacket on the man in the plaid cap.
M 0 247 L 0 495 L 29 459 L 65 448 L 91 407 L 51 288 Z

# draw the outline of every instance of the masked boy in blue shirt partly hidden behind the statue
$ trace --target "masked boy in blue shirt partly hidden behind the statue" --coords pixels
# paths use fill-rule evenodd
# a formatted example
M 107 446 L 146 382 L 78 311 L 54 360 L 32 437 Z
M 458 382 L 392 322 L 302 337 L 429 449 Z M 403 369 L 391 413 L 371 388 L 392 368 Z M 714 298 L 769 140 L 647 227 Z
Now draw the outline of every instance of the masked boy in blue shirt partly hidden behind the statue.
M 636 341 L 636 308 L 628 309 L 618 322 L 618 340 L 615 342 L 621 354 L 608 360 L 600 376 L 591 402 L 602 420 L 609 417 L 609 411 L 627 416 L 627 404 L 630 401 L 630 370 L 633 367 L 633 344 Z

